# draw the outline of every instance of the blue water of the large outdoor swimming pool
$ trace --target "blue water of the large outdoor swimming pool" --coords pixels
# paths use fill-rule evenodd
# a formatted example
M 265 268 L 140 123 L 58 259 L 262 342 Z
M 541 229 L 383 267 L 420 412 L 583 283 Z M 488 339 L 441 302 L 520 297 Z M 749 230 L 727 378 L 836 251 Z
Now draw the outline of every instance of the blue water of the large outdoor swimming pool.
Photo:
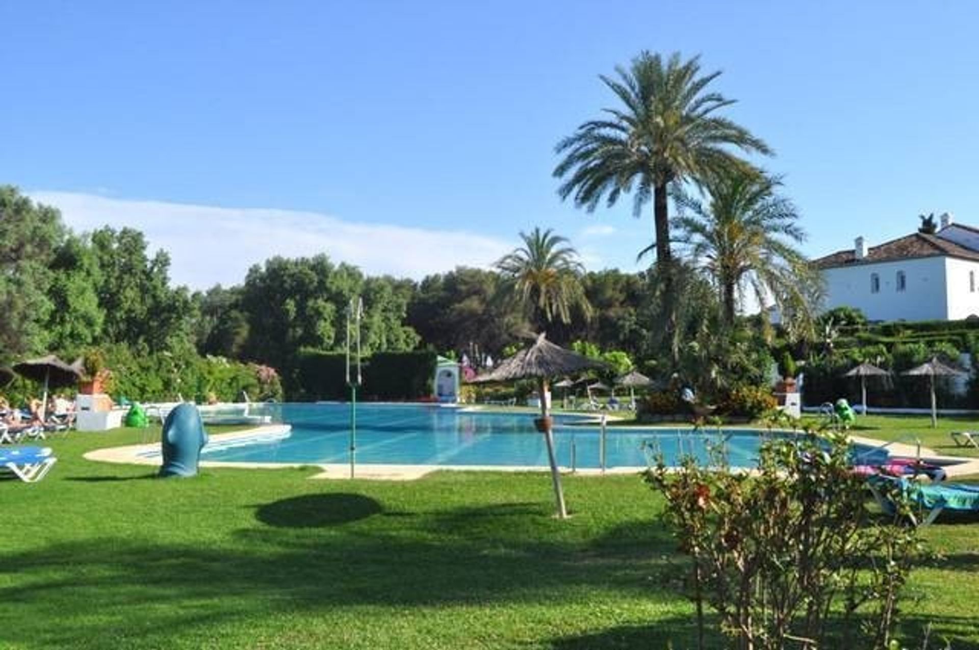
M 205 447 L 203 460 L 225 462 L 346 463 L 350 441 L 347 404 L 268 404 L 274 422 L 292 425 L 280 440 Z M 256 408 L 253 408 L 256 413 Z M 600 429 L 575 425 L 582 416 L 555 416 L 554 441 L 564 467 L 600 467 Z M 606 467 L 645 467 L 645 445 L 668 463 L 693 454 L 706 460 L 723 444 L 732 467 L 757 465 L 761 432 L 749 430 L 615 429 L 606 438 Z M 574 458 L 572 457 L 574 454 Z M 356 460 L 364 464 L 546 467 L 543 436 L 530 414 L 469 412 L 436 405 L 363 404 L 357 407 Z

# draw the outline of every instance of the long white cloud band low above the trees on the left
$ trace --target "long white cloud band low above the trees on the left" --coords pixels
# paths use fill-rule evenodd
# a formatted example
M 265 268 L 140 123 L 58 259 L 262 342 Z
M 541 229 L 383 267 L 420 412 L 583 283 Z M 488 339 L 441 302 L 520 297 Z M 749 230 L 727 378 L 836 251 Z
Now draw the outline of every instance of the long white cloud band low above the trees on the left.
M 61 209 L 65 223 L 77 232 L 104 225 L 141 230 L 152 249 L 170 254 L 173 282 L 193 289 L 240 284 L 252 264 L 273 255 L 325 253 L 370 275 L 419 279 L 457 265 L 487 267 L 512 248 L 463 231 L 355 223 L 317 212 L 214 208 L 70 192 L 38 191 L 30 197 Z

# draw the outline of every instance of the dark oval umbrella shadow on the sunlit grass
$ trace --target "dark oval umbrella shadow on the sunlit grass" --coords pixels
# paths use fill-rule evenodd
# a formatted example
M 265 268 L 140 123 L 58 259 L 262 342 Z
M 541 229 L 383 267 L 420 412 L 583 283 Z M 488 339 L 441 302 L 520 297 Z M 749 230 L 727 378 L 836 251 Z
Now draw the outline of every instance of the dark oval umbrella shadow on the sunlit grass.
M 276 528 L 324 528 L 366 519 L 381 513 L 376 500 L 345 492 L 303 494 L 273 501 L 256 510 L 258 521 Z

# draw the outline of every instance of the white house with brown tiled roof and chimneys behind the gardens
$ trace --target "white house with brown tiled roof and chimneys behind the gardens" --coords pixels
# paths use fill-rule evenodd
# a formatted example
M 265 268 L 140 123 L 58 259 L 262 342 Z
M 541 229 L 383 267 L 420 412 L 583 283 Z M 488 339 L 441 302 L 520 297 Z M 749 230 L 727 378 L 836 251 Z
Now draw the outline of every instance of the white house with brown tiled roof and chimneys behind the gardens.
M 869 320 L 957 320 L 979 316 L 979 229 L 941 217 L 934 235 L 919 232 L 816 259 L 825 279 L 823 307 L 853 306 Z

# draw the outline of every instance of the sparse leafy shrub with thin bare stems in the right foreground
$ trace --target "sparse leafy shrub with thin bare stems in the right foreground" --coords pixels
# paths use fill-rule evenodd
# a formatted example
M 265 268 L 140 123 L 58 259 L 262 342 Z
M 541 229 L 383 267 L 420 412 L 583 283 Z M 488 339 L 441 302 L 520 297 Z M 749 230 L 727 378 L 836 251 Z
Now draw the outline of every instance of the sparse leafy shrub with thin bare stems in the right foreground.
M 897 602 L 920 555 L 916 529 L 873 520 L 844 436 L 763 445 L 758 475 L 662 457 L 646 481 L 688 555 L 704 647 L 705 607 L 731 647 L 888 648 Z M 900 511 L 900 508 L 899 508 Z M 788 644 L 791 641 L 791 644 Z

